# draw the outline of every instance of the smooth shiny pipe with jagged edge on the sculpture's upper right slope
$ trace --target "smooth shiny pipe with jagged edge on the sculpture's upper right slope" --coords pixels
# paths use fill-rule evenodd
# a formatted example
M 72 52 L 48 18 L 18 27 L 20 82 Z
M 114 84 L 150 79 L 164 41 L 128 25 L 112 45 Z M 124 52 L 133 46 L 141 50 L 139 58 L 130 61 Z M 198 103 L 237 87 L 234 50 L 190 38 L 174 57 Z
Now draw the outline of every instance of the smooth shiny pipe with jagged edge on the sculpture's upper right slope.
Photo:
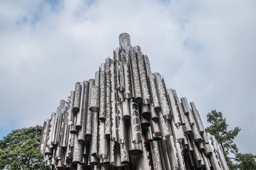
M 180 126 L 182 125 L 182 120 L 181 120 L 181 116 L 180 116 L 180 110 L 178 107 L 178 101 L 176 100 L 176 91 L 172 90 L 172 89 L 166 89 L 167 95 L 168 95 L 168 99 L 169 99 L 169 103 L 170 103 L 170 108 L 172 111 L 172 117 L 175 123 L 175 126 Z

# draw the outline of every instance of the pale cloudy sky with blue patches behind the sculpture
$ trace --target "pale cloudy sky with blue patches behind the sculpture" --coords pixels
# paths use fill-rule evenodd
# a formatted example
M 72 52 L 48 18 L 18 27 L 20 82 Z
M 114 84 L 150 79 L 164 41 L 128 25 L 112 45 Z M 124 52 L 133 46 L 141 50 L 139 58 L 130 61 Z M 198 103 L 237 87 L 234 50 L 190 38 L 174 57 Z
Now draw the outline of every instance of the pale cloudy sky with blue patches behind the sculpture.
M 255 0 L 1 0 L 0 139 L 43 125 L 126 32 L 204 127 L 221 111 L 241 129 L 239 151 L 256 154 L 255 9 Z

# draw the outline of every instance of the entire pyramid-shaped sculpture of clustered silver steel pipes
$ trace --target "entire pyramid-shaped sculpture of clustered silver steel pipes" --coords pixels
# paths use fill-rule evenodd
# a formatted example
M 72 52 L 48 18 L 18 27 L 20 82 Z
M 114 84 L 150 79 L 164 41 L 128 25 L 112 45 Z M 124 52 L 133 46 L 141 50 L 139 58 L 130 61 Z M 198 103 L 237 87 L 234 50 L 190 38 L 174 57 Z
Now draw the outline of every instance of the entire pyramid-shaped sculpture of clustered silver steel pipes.
M 52 170 L 228 170 L 194 102 L 166 89 L 148 56 L 119 36 L 114 59 L 77 82 L 44 121 L 39 152 Z

